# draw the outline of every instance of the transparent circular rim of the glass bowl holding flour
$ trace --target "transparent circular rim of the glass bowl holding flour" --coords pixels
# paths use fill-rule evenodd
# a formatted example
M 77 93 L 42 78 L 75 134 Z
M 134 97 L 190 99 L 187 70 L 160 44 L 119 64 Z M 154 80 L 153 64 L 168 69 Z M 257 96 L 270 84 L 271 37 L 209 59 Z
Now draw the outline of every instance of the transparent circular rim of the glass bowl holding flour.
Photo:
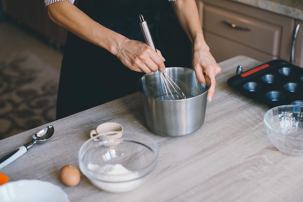
M 130 139 L 123 139 L 123 135 L 121 138 L 117 138 L 117 139 L 107 139 L 107 140 L 101 140 L 101 141 L 98 141 L 98 142 L 95 142 L 93 141 L 93 139 L 95 138 L 99 138 L 100 136 L 102 135 L 108 135 L 110 133 L 113 133 L 113 132 L 122 132 L 122 133 L 136 133 L 137 135 L 140 135 L 140 136 L 144 136 L 145 139 L 147 139 L 153 146 L 154 148 L 152 148 L 151 146 L 149 145 L 146 145 L 144 143 L 141 143 L 137 140 L 130 140 Z M 145 170 L 146 168 L 148 167 L 151 167 L 147 172 L 144 172 L 144 174 L 142 175 L 139 175 L 137 178 L 134 178 L 134 179 L 129 179 L 129 180 L 123 180 L 123 181 L 106 181 L 106 180 L 100 180 L 100 179 L 97 179 L 95 177 L 93 177 L 91 174 L 89 174 L 88 172 L 91 172 L 91 173 L 96 173 L 98 174 L 99 176 L 106 176 L 106 174 L 102 174 L 102 173 L 98 173 L 98 172 L 95 172 L 93 170 L 90 170 L 88 169 L 88 167 L 83 163 L 82 161 L 82 157 L 83 155 L 86 153 L 84 150 L 84 146 L 86 144 L 89 144 L 90 142 L 91 143 L 99 143 L 98 146 L 101 144 L 106 144 L 106 143 L 112 143 L 112 142 L 116 142 L 116 141 L 119 141 L 119 142 L 128 142 L 128 143 L 136 143 L 136 144 L 141 144 L 141 145 L 144 145 L 145 147 L 147 147 L 148 149 L 152 150 L 154 153 L 155 153 L 155 157 L 154 159 L 152 159 L 151 163 L 149 163 L 148 165 L 144 166 L 143 168 L 139 169 L 139 170 L 136 170 L 134 172 L 140 172 L 142 170 Z M 137 179 L 140 179 L 140 178 L 143 178 L 144 176 L 152 173 L 152 171 L 156 168 L 157 164 L 158 164 L 158 158 L 159 158 L 159 146 L 156 144 L 156 142 L 149 136 L 147 135 L 144 135 L 144 134 L 141 134 L 141 133 L 138 133 L 138 132 L 135 132 L 135 131 L 108 131 L 108 132 L 104 132 L 104 133 L 101 133 L 101 134 L 98 134 L 94 137 L 91 137 L 90 139 L 88 139 L 85 143 L 83 143 L 79 149 L 79 152 L 78 152 L 78 161 L 79 161 L 79 167 L 80 167 L 80 170 L 82 171 L 82 173 L 87 176 L 89 179 L 92 179 L 92 180 L 96 180 L 96 181 L 99 181 L 99 182 L 107 182 L 107 183 L 121 183 L 121 182 L 129 182 L 129 181 L 133 181 L 133 180 L 137 180 Z M 82 166 L 81 166 L 82 165 Z M 83 168 L 85 170 L 83 170 Z M 123 176 L 124 174 L 117 174 L 117 175 L 113 175 L 113 176 Z M 125 174 L 127 175 L 127 174 Z

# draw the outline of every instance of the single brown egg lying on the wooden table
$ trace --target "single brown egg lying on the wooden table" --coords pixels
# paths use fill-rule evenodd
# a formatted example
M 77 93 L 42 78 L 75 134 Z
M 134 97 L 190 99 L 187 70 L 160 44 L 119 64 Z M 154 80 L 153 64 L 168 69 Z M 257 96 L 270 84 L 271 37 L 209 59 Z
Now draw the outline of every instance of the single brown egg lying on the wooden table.
M 60 180 L 66 186 L 76 186 L 80 182 L 80 172 L 72 165 L 65 165 L 60 170 Z

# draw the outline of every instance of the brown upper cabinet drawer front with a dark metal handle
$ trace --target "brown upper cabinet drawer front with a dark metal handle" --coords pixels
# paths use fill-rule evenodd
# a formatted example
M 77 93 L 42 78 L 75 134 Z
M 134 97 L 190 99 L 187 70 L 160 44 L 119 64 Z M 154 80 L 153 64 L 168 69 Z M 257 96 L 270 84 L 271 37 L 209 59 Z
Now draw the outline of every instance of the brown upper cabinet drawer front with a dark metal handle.
M 258 51 L 279 55 L 281 26 L 205 5 L 204 30 Z

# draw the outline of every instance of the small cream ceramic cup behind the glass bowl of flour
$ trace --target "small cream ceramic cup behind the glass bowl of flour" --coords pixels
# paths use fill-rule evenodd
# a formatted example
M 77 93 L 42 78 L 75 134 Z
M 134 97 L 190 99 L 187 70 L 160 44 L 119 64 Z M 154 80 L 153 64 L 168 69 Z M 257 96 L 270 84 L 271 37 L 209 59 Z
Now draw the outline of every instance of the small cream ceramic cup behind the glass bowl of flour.
M 103 124 L 100 124 L 96 130 L 91 130 L 91 138 L 105 133 L 105 132 L 110 132 L 110 131 L 123 131 L 123 126 L 119 123 L 115 123 L 115 122 L 106 122 Z M 110 133 L 107 135 L 101 135 L 98 139 L 95 138 L 93 139 L 94 141 L 101 141 L 101 140 L 109 140 L 109 139 L 118 139 L 121 138 L 122 133 L 121 132 L 117 132 L 117 133 Z

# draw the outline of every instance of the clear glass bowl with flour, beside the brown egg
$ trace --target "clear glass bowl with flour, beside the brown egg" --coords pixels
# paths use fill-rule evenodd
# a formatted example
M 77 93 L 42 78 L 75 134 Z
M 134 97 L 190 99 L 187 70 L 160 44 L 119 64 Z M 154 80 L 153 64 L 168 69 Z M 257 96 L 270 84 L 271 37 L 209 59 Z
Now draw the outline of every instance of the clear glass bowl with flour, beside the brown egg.
M 104 135 L 118 138 L 103 140 Z M 81 172 L 94 186 L 118 193 L 142 185 L 157 166 L 158 153 L 158 145 L 146 135 L 111 131 L 86 141 L 78 160 Z

